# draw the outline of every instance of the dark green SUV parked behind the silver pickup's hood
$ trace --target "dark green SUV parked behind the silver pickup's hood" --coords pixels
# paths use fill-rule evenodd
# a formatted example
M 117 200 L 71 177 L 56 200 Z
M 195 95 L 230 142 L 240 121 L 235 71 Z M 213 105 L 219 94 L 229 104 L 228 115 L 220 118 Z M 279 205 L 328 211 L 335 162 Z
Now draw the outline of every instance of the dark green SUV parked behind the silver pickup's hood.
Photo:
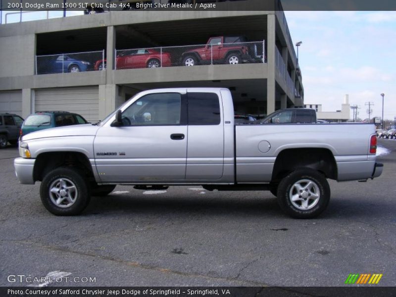
M 38 111 L 29 115 L 23 122 L 20 135 L 23 136 L 31 132 L 54 127 L 79 124 L 88 124 L 88 122 L 77 113 L 68 111 Z

